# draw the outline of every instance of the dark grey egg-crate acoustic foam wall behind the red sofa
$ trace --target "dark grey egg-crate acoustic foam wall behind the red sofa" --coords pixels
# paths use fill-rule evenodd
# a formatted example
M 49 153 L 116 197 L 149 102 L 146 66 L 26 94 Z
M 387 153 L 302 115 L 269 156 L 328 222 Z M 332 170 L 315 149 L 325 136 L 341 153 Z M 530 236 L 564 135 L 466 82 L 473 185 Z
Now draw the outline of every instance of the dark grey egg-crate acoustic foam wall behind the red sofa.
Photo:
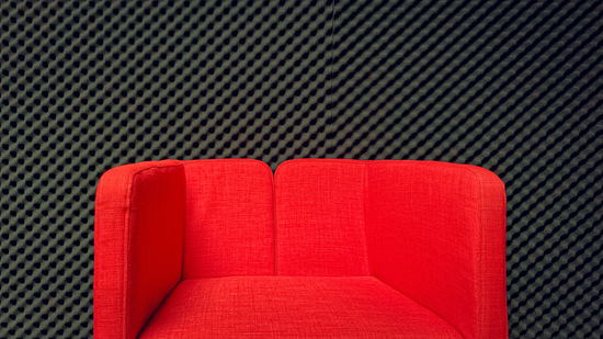
M 600 1 L 2 1 L 0 338 L 92 336 L 100 176 L 434 159 L 507 183 L 511 338 L 601 327 Z

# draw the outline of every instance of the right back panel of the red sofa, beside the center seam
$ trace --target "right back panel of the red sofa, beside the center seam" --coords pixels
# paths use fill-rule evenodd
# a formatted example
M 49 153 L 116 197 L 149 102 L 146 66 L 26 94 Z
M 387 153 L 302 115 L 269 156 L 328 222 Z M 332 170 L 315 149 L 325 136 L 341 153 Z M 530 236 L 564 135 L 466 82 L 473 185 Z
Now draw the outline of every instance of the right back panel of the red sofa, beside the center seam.
M 274 190 L 278 275 L 368 274 L 363 161 L 285 161 Z

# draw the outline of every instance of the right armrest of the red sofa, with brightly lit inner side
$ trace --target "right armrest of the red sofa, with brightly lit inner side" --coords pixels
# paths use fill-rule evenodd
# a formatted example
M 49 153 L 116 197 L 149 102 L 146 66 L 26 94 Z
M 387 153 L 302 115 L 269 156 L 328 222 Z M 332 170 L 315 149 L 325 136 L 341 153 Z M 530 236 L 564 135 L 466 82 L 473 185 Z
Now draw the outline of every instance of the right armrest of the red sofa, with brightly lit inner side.
M 436 161 L 368 165 L 373 274 L 465 338 L 507 338 L 505 197 L 492 172 Z

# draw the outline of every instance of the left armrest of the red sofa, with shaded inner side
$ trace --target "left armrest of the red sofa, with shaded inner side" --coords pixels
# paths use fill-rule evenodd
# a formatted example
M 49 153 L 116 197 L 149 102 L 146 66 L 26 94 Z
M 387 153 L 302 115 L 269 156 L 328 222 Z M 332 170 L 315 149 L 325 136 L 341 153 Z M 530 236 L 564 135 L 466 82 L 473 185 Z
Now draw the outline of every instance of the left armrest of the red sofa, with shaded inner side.
M 99 183 L 94 337 L 135 338 L 181 279 L 184 170 L 180 161 L 114 168 Z

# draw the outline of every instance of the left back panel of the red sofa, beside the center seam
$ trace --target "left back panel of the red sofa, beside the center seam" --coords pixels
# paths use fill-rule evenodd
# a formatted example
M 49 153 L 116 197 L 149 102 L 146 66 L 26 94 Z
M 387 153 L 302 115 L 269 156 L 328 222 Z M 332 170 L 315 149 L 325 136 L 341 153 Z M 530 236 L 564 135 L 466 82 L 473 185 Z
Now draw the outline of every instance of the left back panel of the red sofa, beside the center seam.
M 185 162 L 183 279 L 274 274 L 272 170 L 251 159 Z

